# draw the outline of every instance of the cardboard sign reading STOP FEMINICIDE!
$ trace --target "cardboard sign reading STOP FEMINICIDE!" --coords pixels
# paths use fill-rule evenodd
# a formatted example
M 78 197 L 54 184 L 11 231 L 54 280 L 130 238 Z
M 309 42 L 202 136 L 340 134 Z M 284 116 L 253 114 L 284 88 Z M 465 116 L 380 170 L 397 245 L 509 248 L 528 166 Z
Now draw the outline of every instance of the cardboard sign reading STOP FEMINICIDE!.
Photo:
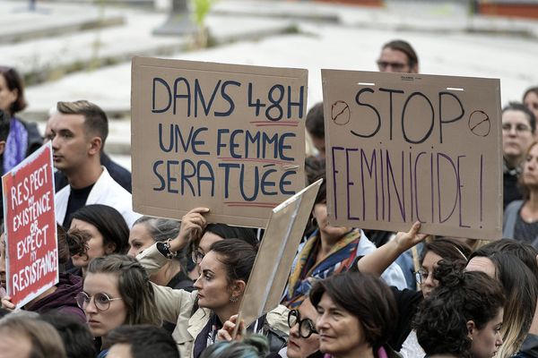
M 322 70 L 333 225 L 499 239 L 499 80 Z

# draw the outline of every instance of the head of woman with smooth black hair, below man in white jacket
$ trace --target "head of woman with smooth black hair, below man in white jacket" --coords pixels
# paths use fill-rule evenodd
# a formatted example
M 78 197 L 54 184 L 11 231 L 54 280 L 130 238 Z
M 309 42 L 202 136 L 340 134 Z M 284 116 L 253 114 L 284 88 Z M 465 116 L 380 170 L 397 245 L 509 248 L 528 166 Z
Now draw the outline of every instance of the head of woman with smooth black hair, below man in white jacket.
M 85 242 L 69 243 L 73 265 L 79 268 L 74 273 L 84 276 L 93 258 L 112 253 L 126 253 L 129 245 L 129 227 L 117 209 L 92 204 L 76 210 L 72 217 L 71 229 L 81 230 L 89 237 Z

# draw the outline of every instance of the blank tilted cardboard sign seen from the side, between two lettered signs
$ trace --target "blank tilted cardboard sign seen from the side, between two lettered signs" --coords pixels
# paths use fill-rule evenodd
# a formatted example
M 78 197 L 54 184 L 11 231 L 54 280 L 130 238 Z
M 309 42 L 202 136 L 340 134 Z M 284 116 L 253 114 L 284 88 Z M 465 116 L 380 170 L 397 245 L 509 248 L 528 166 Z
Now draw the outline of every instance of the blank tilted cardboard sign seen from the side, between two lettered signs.
M 245 327 L 280 303 L 321 183 L 312 183 L 273 209 L 239 307 Z

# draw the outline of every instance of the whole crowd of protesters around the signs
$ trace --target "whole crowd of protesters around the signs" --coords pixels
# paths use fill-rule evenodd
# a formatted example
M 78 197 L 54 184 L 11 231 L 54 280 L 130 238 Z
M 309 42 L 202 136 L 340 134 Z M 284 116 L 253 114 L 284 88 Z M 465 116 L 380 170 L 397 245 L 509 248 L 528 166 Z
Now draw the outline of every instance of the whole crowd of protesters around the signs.
M 403 40 L 377 65 L 419 72 Z M 538 357 L 538 87 L 502 108 L 504 239 L 421 234 L 420 222 L 400 233 L 334 226 L 324 180 L 281 304 L 248 326 L 239 308 L 259 230 L 208 223 L 210 208 L 180 221 L 134 212 L 100 107 L 58 102 L 42 138 L 17 116 L 25 106 L 20 75 L 0 66 L 0 170 L 51 141 L 60 273 L 20 310 L 1 292 L 0 357 Z M 306 129 L 314 183 L 325 179 L 322 103 Z M 3 226 L 3 289 L 5 245 Z

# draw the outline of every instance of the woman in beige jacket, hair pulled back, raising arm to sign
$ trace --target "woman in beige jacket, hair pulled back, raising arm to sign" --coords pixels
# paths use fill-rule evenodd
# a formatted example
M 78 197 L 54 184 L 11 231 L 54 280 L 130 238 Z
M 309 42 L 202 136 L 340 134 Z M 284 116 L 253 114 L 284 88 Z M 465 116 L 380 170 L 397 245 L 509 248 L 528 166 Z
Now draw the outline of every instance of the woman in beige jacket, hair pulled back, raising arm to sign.
M 202 222 L 195 219 L 183 221 L 178 237 L 168 243 L 156 243 L 137 259 L 152 273 L 172 258 L 178 247 L 185 247 L 192 230 L 200 230 L 201 226 Z M 181 356 L 200 357 L 205 347 L 216 341 L 222 323 L 239 312 L 256 252 L 256 247 L 239 239 L 219 240 L 200 261 L 201 275 L 195 282 L 196 291 L 189 293 L 154 286 L 162 318 L 177 321 L 172 337 L 178 343 Z M 193 312 L 196 299 L 199 308 Z M 269 335 L 273 329 L 286 332 L 286 314 L 287 310 L 279 306 L 247 330 L 264 335 Z

